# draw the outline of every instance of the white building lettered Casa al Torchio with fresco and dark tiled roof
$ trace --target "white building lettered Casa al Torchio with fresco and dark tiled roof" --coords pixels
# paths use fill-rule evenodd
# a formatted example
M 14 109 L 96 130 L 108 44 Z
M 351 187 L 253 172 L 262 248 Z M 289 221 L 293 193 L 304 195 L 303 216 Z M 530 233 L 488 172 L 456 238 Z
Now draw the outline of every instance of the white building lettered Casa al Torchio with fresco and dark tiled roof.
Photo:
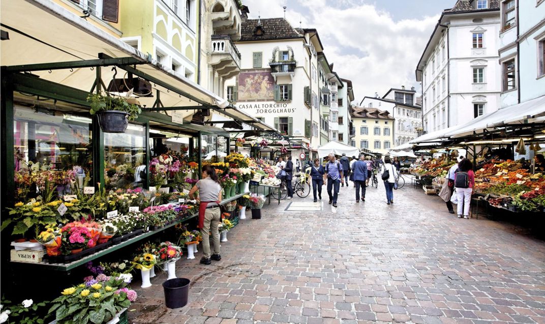
M 235 43 L 241 71 L 226 82 L 228 100 L 301 143 L 301 151 L 314 152 L 320 146 L 318 53 L 323 51 L 316 29 L 272 18 L 246 20 L 241 31 Z

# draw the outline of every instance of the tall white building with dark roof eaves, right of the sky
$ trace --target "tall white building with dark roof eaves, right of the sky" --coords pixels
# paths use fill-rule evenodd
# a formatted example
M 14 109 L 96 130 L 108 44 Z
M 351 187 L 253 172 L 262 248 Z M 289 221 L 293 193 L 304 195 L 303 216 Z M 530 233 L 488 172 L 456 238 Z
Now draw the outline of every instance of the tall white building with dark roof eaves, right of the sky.
M 458 0 L 443 11 L 416 67 L 425 131 L 463 124 L 498 109 L 499 31 L 498 0 Z

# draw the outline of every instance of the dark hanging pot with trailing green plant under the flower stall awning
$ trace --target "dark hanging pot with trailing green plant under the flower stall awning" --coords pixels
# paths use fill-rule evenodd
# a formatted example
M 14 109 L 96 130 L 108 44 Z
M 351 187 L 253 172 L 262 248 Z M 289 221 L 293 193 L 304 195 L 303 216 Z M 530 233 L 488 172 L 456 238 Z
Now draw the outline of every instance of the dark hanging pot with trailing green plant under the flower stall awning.
M 129 93 L 132 93 L 132 91 Z M 125 133 L 129 121 L 134 121 L 142 113 L 140 107 L 129 104 L 127 100 L 128 97 L 112 97 L 101 94 L 88 95 L 87 101 L 91 107 L 89 113 L 98 116 L 100 128 L 104 133 Z

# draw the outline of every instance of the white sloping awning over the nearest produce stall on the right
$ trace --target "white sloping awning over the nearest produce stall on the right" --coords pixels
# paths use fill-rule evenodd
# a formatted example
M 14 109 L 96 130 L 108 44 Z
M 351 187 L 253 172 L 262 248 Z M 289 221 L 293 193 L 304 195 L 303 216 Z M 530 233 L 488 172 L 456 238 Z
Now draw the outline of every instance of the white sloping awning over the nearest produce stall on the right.
M 485 129 L 505 127 L 506 125 L 531 124 L 534 118 L 545 115 L 545 95 L 524 103 L 508 106 L 473 119 L 445 133 L 446 137 L 464 137 L 483 133 Z

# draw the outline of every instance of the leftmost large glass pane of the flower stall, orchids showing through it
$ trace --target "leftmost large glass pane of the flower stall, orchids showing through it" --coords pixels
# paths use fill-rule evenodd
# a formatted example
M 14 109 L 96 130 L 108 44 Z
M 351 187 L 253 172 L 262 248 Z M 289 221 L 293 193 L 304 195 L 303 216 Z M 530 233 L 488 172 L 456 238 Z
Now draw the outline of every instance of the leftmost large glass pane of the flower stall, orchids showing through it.
M 70 194 L 93 183 L 91 119 L 15 106 L 15 198 Z

